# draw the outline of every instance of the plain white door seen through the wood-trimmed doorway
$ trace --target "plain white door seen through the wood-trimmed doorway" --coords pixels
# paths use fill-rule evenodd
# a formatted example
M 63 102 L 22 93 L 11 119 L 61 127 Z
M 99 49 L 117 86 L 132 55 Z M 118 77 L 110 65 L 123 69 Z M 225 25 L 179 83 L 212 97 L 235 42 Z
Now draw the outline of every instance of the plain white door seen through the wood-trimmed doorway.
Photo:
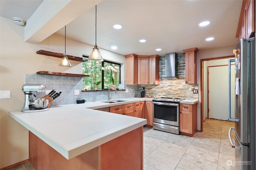
M 234 117 L 234 65 L 231 66 L 231 116 Z M 228 66 L 209 67 L 209 118 L 228 120 Z

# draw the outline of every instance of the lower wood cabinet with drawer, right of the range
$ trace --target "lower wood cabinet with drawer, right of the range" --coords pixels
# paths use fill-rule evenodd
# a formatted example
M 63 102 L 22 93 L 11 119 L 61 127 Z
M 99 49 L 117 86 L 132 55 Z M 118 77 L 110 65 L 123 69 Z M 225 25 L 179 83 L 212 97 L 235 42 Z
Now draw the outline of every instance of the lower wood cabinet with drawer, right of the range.
M 180 133 L 193 136 L 196 133 L 197 103 L 180 104 Z

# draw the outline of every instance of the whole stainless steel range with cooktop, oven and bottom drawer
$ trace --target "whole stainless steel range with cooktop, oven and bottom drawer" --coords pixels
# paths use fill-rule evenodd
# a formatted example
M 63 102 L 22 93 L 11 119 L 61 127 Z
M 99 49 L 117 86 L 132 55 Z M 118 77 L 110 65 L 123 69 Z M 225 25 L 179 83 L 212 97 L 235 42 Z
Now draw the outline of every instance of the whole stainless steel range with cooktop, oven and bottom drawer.
M 184 98 L 153 99 L 153 129 L 179 133 L 179 103 Z

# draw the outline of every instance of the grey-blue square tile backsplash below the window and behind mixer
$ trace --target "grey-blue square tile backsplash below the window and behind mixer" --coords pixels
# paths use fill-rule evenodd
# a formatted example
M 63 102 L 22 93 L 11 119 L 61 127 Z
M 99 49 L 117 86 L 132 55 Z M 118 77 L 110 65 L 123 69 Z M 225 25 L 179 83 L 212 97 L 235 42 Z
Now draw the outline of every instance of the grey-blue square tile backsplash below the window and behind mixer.
M 43 84 L 46 85 L 47 91 L 55 89 L 56 92 L 62 92 L 51 103 L 51 106 L 75 104 L 76 100 L 80 99 L 84 99 L 86 102 L 108 100 L 108 91 L 81 92 L 82 81 L 80 77 L 25 74 L 25 84 Z M 124 88 L 126 89 L 125 91 L 119 90 L 117 94 L 114 91 L 110 91 L 112 99 L 139 97 L 138 85 L 127 85 Z M 74 95 L 74 90 L 79 90 L 79 95 Z M 42 98 L 45 94 L 36 93 L 36 98 Z

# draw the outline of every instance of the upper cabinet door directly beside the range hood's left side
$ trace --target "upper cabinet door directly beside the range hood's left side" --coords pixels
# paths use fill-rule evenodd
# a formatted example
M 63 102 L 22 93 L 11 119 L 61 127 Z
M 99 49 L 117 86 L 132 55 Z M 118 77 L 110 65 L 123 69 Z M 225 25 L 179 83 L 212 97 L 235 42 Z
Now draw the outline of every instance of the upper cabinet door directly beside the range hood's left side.
M 149 84 L 159 85 L 159 58 L 149 58 Z

